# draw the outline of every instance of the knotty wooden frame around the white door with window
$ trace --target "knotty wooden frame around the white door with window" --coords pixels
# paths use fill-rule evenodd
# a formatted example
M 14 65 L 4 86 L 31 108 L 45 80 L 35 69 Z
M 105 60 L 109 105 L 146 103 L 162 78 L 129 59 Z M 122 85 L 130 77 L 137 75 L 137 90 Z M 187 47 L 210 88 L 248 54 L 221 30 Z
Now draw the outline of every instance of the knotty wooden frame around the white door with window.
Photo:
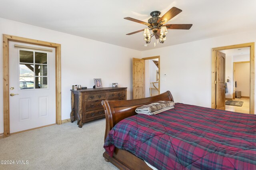
M 60 62 L 60 44 L 10 36 L 3 34 L 3 104 L 4 104 L 4 137 L 10 135 L 10 103 L 9 103 L 9 42 L 28 43 L 55 48 L 55 96 L 56 96 L 56 124 L 62 124 L 61 121 L 61 62 Z

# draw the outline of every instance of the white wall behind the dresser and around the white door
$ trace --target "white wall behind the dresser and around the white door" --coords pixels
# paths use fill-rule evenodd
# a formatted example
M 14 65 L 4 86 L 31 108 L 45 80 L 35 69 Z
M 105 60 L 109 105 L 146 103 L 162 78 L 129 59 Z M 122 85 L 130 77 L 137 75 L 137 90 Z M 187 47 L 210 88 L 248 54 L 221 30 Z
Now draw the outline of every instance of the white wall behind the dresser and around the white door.
M 2 34 L 61 44 L 62 120 L 70 118 L 70 89 L 72 85 L 91 88 L 93 78 L 101 78 L 103 87 L 128 87 L 127 99 L 132 96 L 132 57 L 140 58 L 141 51 L 56 32 L 0 18 L 0 61 Z M 3 89 L 3 63 L 0 62 L 0 89 Z M 0 90 L 0 133 L 3 129 L 3 91 Z

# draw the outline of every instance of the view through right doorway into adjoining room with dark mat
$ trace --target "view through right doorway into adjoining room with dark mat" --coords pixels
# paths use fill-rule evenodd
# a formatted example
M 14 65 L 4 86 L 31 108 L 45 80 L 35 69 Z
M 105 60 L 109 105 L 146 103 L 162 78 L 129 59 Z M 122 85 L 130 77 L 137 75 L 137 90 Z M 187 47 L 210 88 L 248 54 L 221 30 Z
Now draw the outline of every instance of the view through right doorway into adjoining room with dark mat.
M 250 47 L 226 49 L 225 110 L 250 112 Z

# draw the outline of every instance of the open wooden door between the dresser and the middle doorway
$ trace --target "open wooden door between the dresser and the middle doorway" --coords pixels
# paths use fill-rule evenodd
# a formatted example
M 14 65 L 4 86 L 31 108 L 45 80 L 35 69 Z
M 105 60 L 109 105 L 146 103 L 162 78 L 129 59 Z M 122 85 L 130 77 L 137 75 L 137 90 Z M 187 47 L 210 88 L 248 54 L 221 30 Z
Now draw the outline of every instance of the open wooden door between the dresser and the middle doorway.
M 145 97 L 145 60 L 132 58 L 132 99 Z

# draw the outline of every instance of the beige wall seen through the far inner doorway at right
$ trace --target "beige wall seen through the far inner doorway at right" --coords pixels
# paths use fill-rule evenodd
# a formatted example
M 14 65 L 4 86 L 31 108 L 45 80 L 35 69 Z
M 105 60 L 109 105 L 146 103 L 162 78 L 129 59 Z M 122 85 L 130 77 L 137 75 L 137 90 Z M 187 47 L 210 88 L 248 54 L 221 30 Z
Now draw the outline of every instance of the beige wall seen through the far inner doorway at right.
M 235 63 L 235 91 L 241 91 L 241 96 L 250 96 L 250 63 Z

